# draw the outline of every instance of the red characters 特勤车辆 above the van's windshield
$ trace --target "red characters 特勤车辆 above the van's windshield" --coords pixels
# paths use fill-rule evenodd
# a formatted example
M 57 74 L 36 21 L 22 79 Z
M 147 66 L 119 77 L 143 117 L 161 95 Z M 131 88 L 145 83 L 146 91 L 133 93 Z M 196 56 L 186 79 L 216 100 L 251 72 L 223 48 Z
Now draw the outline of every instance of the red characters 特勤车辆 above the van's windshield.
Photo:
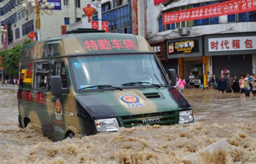
M 137 50 L 137 45 L 131 39 L 90 39 L 84 41 L 84 47 L 89 51 Z

